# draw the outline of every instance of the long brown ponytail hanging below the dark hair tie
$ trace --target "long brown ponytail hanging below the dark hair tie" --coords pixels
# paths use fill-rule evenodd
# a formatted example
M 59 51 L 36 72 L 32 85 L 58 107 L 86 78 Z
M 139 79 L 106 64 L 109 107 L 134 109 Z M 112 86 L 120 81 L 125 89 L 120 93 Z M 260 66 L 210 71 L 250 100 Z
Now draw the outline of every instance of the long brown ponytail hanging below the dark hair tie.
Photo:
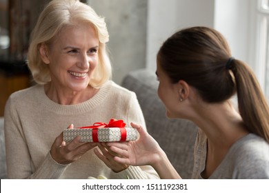
M 239 113 L 246 128 L 269 143 L 269 107 L 255 74 L 239 60 L 233 59 L 230 66 L 237 86 Z

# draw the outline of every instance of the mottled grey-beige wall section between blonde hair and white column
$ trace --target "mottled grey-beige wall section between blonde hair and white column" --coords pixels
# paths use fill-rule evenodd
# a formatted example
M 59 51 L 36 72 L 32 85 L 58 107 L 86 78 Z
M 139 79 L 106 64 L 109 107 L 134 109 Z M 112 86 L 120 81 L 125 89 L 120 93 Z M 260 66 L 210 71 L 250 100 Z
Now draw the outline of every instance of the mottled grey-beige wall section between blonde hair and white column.
M 88 0 L 88 4 L 106 18 L 112 79 L 121 83 L 128 72 L 145 68 L 148 0 Z

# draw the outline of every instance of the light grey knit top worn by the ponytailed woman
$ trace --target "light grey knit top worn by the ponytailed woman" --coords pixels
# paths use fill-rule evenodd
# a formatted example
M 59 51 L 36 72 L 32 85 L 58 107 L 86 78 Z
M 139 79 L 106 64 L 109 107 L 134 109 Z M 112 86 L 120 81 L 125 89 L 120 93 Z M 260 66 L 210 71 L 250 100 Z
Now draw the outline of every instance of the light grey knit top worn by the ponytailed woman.
M 206 163 L 206 134 L 199 130 L 193 179 L 202 179 Z M 269 179 L 269 144 L 248 134 L 235 142 L 209 179 Z

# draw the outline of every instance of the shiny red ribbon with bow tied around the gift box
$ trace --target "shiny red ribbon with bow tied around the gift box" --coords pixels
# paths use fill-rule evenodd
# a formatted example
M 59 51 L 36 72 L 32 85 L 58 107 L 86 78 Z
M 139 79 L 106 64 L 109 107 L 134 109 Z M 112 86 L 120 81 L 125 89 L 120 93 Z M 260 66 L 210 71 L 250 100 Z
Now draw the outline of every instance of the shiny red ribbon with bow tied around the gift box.
M 99 128 L 119 128 L 121 130 L 121 141 L 126 141 L 126 128 L 124 128 L 126 123 L 123 122 L 123 120 L 117 120 L 117 119 L 110 119 L 109 123 L 103 123 L 103 122 L 97 122 L 93 125 L 81 127 L 79 129 L 92 129 L 92 141 L 93 142 L 99 142 L 98 139 L 98 129 Z

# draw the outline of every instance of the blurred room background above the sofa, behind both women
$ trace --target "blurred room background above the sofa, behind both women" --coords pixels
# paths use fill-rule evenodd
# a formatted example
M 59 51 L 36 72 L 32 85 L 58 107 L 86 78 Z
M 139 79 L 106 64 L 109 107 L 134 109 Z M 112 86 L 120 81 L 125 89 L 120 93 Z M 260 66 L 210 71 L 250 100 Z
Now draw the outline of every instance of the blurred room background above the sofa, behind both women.
M 0 0 L 0 116 L 8 96 L 28 88 L 26 66 L 30 32 L 49 0 Z M 156 54 L 171 34 L 191 26 L 219 30 L 233 57 L 255 71 L 269 99 L 269 0 L 85 0 L 105 17 L 112 79 L 121 84 L 128 72 L 155 72 Z

